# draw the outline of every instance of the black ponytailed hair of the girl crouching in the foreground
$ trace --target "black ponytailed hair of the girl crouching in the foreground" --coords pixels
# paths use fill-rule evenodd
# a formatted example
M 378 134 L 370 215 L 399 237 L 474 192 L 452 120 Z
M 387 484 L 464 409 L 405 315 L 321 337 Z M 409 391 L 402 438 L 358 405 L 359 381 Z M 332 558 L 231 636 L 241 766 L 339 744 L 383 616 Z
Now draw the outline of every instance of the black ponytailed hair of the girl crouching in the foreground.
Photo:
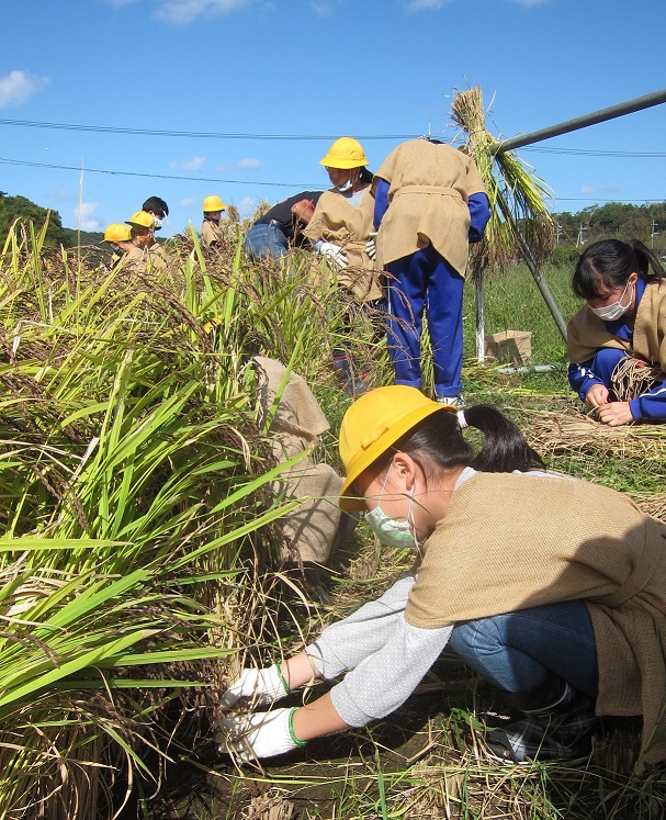
M 388 462 L 400 451 L 417 462 L 419 453 L 427 456 L 442 470 L 472 467 L 484 473 L 510 473 L 544 469 L 541 457 L 518 427 L 495 407 L 483 404 L 469 407 L 464 418 L 470 427 L 484 434 L 483 447 L 476 454 L 462 435 L 458 414 L 442 409 L 415 425 L 377 461 Z

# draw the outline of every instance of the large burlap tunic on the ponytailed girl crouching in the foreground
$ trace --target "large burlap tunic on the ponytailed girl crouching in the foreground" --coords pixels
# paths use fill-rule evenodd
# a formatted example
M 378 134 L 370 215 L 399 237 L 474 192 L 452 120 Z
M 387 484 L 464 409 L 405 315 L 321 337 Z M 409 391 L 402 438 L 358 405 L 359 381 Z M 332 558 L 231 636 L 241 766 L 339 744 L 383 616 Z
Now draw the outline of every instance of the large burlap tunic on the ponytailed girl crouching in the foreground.
M 598 715 L 643 715 L 643 760 L 666 757 L 666 525 L 622 493 L 529 473 L 477 473 L 425 546 L 416 627 L 584 600 Z

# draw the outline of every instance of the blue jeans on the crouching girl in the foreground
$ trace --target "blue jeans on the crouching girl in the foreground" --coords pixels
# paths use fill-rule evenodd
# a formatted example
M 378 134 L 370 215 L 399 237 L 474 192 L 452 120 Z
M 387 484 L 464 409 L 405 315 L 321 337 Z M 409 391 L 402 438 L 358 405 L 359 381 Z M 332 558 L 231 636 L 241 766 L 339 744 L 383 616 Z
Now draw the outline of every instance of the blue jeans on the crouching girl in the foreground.
M 582 600 L 459 624 L 449 645 L 504 692 L 533 689 L 551 671 L 574 688 L 597 696 L 597 642 Z

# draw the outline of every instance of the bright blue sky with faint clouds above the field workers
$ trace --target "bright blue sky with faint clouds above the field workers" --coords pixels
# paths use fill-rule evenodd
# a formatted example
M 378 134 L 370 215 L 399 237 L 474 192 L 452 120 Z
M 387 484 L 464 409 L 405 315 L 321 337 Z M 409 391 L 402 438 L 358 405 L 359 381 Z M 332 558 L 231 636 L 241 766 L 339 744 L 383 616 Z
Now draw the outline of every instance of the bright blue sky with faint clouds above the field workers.
M 3 0 L 0 190 L 88 231 L 157 194 L 168 236 L 211 193 L 248 215 L 326 188 L 337 136 L 371 170 L 406 136 L 453 138 L 456 88 L 481 85 L 503 137 L 657 91 L 665 32 L 664 0 Z M 518 154 L 554 211 L 641 204 L 666 199 L 665 135 L 661 104 Z

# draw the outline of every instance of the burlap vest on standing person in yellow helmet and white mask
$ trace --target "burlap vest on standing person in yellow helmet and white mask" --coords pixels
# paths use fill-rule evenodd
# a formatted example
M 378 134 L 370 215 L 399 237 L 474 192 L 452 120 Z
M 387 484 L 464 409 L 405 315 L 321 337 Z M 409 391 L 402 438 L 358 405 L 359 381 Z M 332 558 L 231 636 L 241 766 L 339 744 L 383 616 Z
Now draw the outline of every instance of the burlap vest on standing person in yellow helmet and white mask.
M 303 232 L 312 241 L 330 241 L 345 250 L 349 267 L 337 272 L 337 282 L 361 302 L 374 302 L 383 295 L 374 262 L 365 252 L 365 243 L 374 229 L 373 213 L 374 196 L 370 186 L 358 207 L 339 191 L 324 191 Z

